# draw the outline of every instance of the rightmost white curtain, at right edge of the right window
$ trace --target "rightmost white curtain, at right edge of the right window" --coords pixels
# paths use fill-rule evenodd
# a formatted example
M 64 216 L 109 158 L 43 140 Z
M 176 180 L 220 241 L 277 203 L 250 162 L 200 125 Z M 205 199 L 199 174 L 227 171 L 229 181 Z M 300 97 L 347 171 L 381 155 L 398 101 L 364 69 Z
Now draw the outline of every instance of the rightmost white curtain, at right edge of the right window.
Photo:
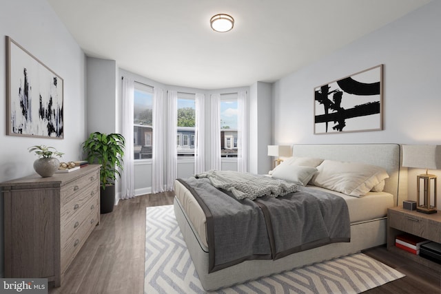
M 238 155 L 237 155 L 237 170 L 239 172 L 247 172 L 248 171 L 248 140 L 247 140 L 247 131 L 248 131 L 248 99 L 247 92 L 242 91 L 238 92 L 237 95 L 238 101 L 238 122 L 237 122 L 237 145 L 238 145 Z

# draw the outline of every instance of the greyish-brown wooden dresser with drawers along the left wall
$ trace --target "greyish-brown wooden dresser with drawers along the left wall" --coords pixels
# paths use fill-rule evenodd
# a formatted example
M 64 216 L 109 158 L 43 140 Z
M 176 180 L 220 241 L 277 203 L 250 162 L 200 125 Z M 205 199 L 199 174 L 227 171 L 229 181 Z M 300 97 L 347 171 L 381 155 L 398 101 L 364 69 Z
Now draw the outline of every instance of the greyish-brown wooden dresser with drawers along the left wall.
M 0 183 L 5 277 L 45 277 L 61 285 L 65 270 L 99 224 L 99 167 Z

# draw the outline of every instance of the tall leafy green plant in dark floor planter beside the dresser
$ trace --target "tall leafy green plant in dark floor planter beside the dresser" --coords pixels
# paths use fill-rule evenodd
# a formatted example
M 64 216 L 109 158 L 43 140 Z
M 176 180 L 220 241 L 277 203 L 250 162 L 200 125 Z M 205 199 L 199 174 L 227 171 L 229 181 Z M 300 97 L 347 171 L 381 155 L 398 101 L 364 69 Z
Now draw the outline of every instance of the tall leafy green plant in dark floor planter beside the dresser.
M 101 213 L 113 211 L 115 202 L 115 180 L 121 177 L 125 139 L 121 134 L 103 134 L 94 132 L 82 144 L 85 156 L 90 164 L 98 163 L 101 183 Z

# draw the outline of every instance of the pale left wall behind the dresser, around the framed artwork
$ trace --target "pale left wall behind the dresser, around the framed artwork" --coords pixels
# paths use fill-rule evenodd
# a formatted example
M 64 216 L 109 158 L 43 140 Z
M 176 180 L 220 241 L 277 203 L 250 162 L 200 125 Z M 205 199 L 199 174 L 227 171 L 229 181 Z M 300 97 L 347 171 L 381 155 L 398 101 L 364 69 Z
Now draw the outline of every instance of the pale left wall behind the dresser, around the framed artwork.
M 64 139 L 6 136 L 5 36 L 50 67 L 64 81 Z M 34 173 L 32 145 L 50 145 L 78 160 L 85 139 L 85 56 L 45 0 L 1 1 L 0 9 L 0 182 Z M 0 264 L 3 277 L 3 195 L 0 205 Z

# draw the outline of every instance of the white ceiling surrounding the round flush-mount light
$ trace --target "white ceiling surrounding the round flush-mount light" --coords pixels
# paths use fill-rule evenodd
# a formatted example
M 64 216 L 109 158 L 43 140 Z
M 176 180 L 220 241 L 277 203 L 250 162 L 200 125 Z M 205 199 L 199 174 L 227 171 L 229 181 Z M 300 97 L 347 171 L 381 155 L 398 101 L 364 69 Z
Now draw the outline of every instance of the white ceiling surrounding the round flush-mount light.
M 48 0 L 88 56 L 206 90 L 276 81 L 430 1 Z

